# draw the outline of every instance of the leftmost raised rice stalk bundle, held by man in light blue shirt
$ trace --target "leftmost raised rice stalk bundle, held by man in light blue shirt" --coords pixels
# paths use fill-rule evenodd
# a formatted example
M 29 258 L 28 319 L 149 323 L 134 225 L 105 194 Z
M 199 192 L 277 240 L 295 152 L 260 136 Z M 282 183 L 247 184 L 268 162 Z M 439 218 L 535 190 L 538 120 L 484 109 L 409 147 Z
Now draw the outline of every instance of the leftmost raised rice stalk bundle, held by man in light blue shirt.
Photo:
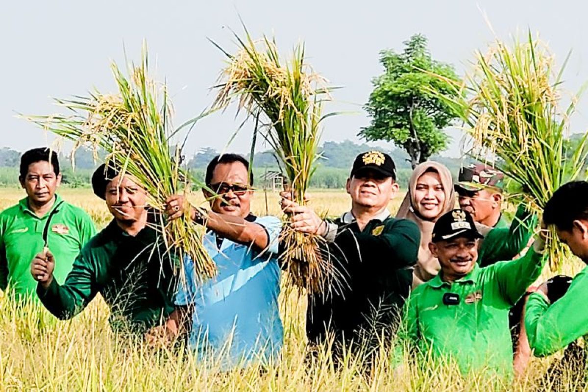
M 109 95 L 95 91 L 88 96 L 55 99 L 57 105 L 71 113 L 26 118 L 58 136 L 73 140 L 72 157 L 82 146 L 93 149 L 95 156 L 98 149 L 105 150 L 106 164 L 132 176 L 148 193 L 148 205 L 163 212 L 167 197 L 191 189 L 188 173 L 181 168 L 180 148 L 170 145 L 170 139 L 182 127 L 172 129 L 171 102 L 166 86 L 149 78 L 145 47 L 141 63 L 128 66 L 128 77 L 116 63 L 112 63 L 111 68 L 118 93 Z M 216 273 L 215 264 L 203 247 L 202 230 L 194 227 L 189 214 L 170 222 L 164 213 L 156 216 L 155 228 L 165 233 L 168 249 L 179 251 L 179 257 L 188 254 L 201 279 L 212 277 Z

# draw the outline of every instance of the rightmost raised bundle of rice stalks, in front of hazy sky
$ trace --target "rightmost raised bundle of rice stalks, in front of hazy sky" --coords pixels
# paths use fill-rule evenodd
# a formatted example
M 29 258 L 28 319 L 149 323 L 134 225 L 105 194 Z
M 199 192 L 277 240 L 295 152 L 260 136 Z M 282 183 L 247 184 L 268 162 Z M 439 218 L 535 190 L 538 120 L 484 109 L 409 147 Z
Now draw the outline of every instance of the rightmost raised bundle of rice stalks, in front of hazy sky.
M 586 135 L 576 148 L 567 142 L 579 94 L 563 112 L 558 105 L 564 66 L 554 73 L 554 56 L 529 33 L 512 47 L 496 40 L 486 54 L 477 53 L 475 71 L 463 84 L 447 81 L 461 98 L 432 91 L 465 122 L 473 155 L 494 159 L 497 168 L 522 186 L 522 193 L 514 196 L 537 213 L 558 187 L 583 174 L 586 160 Z M 547 244 L 552 269 L 564 260 L 564 249 L 554 239 L 552 228 Z

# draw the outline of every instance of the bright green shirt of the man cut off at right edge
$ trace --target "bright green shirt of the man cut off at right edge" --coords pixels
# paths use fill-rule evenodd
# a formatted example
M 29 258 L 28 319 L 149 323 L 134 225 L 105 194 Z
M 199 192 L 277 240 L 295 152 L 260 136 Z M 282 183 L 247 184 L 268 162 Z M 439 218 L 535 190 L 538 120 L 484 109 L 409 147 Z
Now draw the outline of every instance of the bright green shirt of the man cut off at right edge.
M 588 267 L 578 273 L 566 294 L 553 304 L 533 293 L 527 300 L 524 326 L 534 354 L 547 356 L 588 335 Z

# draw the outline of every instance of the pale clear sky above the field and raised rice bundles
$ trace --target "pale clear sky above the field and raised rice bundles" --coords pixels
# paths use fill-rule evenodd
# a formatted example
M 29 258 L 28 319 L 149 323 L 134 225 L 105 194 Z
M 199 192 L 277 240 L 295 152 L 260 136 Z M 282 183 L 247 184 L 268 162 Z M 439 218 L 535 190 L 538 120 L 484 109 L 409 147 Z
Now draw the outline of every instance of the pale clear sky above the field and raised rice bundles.
M 453 63 L 461 74 L 476 49 L 492 39 L 486 13 L 501 38 L 510 33 L 539 31 L 559 63 L 573 49 L 565 75 L 566 89 L 577 91 L 588 79 L 588 5 L 582 1 L 471 0 L 450 1 L 10 1 L 0 14 L 2 89 L 0 147 L 24 150 L 46 145 L 48 137 L 31 123 L 14 117 L 56 111 L 50 97 L 83 95 L 93 86 L 109 92 L 113 82 L 109 61 L 139 58 L 141 42 L 157 59 L 157 75 L 166 78 L 173 94 L 174 123 L 192 118 L 213 99 L 223 55 L 206 37 L 223 48 L 236 46 L 229 28 L 242 32 L 240 15 L 253 36 L 275 35 L 288 53 L 303 39 L 309 62 L 337 91 L 328 110 L 348 115 L 325 122 L 325 140 L 359 141 L 369 123 L 362 105 L 372 91 L 371 79 L 382 72 L 379 51 L 402 50 L 413 33 L 429 39 L 434 58 Z M 588 97 L 587 97 L 588 99 Z M 574 132 L 588 125 L 587 103 L 572 120 Z M 240 123 L 235 110 L 214 113 L 196 126 L 186 155 L 203 147 L 223 149 Z M 248 151 L 252 126 L 245 127 L 229 147 Z M 459 130 L 445 153 L 459 155 Z

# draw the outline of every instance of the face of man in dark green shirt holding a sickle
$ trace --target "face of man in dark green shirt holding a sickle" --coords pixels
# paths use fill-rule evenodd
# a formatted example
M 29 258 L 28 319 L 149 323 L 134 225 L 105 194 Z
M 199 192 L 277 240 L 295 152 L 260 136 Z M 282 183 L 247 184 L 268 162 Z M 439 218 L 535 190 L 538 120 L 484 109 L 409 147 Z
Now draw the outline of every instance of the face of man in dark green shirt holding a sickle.
M 120 183 L 119 183 L 120 181 Z M 135 222 L 145 213 L 147 193 L 128 176 L 116 176 L 106 186 L 106 206 L 121 222 Z

